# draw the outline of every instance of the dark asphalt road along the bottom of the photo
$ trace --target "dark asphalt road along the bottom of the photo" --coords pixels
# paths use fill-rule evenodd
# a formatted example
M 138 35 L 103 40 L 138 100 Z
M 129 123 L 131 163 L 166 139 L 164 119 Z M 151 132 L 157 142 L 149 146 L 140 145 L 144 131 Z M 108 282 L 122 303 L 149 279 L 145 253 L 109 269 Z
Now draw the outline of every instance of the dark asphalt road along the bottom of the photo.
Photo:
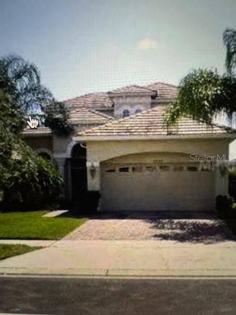
M 236 279 L 0 277 L 0 313 L 235 315 Z

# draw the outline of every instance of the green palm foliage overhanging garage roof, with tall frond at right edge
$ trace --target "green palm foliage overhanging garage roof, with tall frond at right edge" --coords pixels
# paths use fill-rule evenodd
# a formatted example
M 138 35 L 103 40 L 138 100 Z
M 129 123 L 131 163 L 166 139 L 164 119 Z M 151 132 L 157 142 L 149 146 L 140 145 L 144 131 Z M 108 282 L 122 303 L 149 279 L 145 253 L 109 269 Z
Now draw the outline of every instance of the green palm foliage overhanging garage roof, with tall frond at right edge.
M 176 101 L 166 111 L 167 125 L 176 124 L 183 116 L 213 124 L 215 117 L 221 115 L 228 118 L 229 124 L 235 123 L 236 31 L 226 29 L 223 42 L 226 47 L 227 72 L 223 75 L 211 69 L 195 69 L 189 72 L 180 81 Z

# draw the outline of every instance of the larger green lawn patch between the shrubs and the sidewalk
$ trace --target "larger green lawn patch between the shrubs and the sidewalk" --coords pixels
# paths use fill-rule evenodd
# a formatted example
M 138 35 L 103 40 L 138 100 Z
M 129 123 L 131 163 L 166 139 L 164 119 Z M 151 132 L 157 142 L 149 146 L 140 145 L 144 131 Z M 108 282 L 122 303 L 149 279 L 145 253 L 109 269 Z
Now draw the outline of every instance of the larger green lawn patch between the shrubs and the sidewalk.
M 0 239 L 58 240 L 86 219 L 45 218 L 45 211 L 0 213 Z

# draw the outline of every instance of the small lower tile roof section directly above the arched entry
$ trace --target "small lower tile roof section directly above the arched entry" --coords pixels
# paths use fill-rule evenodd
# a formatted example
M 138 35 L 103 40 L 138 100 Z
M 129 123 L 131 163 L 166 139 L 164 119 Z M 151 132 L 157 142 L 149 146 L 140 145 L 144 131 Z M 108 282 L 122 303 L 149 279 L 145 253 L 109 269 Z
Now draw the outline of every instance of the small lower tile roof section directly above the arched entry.
M 106 115 L 104 113 L 98 112 L 96 110 L 92 110 L 89 109 L 87 107 L 79 107 L 79 108 L 75 108 L 73 110 L 70 111 L 69 113 L 69 122 L 88 122 L 92 123 L 92 122 L 101 122 L 101 123 L 105 123 L 108 121 L 113 120 L 114 118 Z

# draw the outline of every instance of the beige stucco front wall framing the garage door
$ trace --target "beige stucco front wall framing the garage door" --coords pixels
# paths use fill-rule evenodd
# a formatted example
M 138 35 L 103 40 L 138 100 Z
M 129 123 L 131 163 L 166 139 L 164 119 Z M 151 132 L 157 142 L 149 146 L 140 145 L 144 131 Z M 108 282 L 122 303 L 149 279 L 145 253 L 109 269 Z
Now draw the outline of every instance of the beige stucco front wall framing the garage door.
M 130 141 L 89 141 L 87 143 L 87 167 L 88 189 L 101 190 L 101 164 L 111 158 L 122 157 L 123 162 L 131 162 L 132 159 L 140 159 L 141 156 L 129 156 L 132 154 L 144 154 L 148 158 L 155 155 L 156 159 L 170 158 L 171 154 L 196 154 L 207 156 L 226 155 L 228 157 L 229 143 L 226 139 L 170 139 L 170 140 L 130 140 Z M 151 155 L 149 155 L 149 153 Z M 159 154 L 159 156 L 158 156 Z M 174 156 L 173 156 L 174 157 Z M 153 157 L 152 157 L 153 158 Z M 186 156 L 178 155 L 179 161 Z M 175 157 L 174 157 L 175 159 Z M 190 160 L 190 157 L 189 157 Z M 93 164 L 96 174 L 92 178 L 89 168 Z M 214 169 L 214 181 L 212 185 L 214 195 L 228 192 L 228 175 L 222 176 L 219 169 Z

